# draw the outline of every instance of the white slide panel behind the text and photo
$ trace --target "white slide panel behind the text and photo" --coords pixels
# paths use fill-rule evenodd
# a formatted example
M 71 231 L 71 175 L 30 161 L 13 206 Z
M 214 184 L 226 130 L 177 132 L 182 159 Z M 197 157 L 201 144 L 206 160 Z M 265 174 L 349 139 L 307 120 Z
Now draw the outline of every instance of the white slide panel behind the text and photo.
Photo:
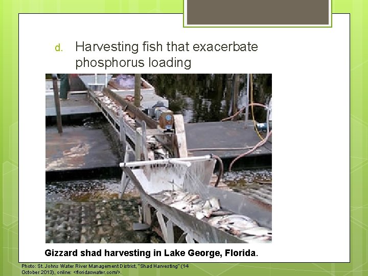
M 52 26 L 55 31 L 47 30 Z M 182 28 L 181 14 L 19 15 L 20 262 L 349 262 L 349 15 L 332 28 Z M 89 43 L 251 43 L 257 52 L 80 53 Z M 62 53 L 55 52 L 61 43 Z M 190 58 L 75 70 L 75 59 Z M 272 244 L 45 244 L 45 73 L 272 73 Z M 32 114 L 32 124 L 29 121 Z M 251 249 L 257 257 L 46 257 L 45 249 Z M 152 255 L 152 254 L 151 254 Z

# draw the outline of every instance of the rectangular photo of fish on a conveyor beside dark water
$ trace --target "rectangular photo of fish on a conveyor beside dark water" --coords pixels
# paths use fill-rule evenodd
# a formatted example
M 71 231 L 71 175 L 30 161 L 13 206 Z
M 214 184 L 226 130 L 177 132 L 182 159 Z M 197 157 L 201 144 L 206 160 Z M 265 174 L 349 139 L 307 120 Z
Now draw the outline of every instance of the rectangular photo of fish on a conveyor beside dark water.
M 46 243 L 271 243 L 271 74 L 45 74 Z

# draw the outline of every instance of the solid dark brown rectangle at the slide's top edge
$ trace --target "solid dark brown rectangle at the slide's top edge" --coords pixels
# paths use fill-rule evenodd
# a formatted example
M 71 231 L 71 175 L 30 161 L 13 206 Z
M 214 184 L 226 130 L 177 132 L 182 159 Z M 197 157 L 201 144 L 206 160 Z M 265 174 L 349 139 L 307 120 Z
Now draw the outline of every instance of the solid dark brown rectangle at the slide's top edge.
M 186 26 L 330 24 L 330 0 L 186 1 Z

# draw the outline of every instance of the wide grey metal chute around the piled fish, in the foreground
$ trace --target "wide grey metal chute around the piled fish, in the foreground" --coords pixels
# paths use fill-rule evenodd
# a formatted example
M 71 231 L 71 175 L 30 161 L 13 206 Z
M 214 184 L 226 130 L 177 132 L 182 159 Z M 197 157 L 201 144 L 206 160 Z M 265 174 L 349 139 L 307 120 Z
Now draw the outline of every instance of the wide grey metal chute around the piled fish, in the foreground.
M 193 157 L 180 158 L 180 160 L 191 160 L 190 158 Z M 242 236 L 240 238 L 239 236 L 233 235 L 231 231 L 224 231 L 221 229 L 222 226 L 215 227 L 214 223 L 209 222 L 210 220 L 208 218 L 203 217 L 202 219 L 198 219 L 193 214 L 190 215 L 188 212 L 178 210 L 174 205 L 166 204 L 159 200 L 158 191 L 162 190 L 165 192 L 171 189 L 170 187 L 181 187 L 180 189 L 183 191 L 198 194 L 202 199 L 218 199 L 223 211 L 231 211 L 232 214 L 237 214 L 239 217 L 247 216 L 255 220 L 257 222 L 257 227 L 255 228 L 257 229 L 263 229 L 262 227 L 271 228 L 272 215 L 269 205 L 261 204 L 240 193 L 208 186 L 215 163 L 214 159 L 208 158 L 192 161 L 192 166 L 188 169 L 191 172 L 189 174 L 186 172 L 185 176 L 181 175 L 180 177 L 175 175 L 175 169 L 160 167 L 162 165 L 156 166 L 155 168 L 146 167 L 145 169 L 133 170 L 123 165 L 124 172 L 140 191 L 143 210 L 145 212 L 145 222 L 147 224 L 151 223 L 151 208 L 153 208 L 160 223 L 164 239 L 170 243 L 175 242 L 172 234 L 173 225 L 177 225 L 182 229 L 183 233 L 187 236 L 187 242 L 243 243 L 247 242 L 248 239 L 252 242 L 270 242 L 270 236 L 254 237 L 252 235 L 245 235 L 245 237 Z M 202 162 L 202 164 L 198 162 Z M 196 166 L 194 166 L 195 163 L 197 163 Z M 193 181 L 192 178 L 188 178 L 188 175 L 198 176 L 197 180 L 202 184 L 198 181 Z M 226 216 L 224 219 L 226 219 Z M 234 225 L 232 230 L 236 228 L 237 226 Z

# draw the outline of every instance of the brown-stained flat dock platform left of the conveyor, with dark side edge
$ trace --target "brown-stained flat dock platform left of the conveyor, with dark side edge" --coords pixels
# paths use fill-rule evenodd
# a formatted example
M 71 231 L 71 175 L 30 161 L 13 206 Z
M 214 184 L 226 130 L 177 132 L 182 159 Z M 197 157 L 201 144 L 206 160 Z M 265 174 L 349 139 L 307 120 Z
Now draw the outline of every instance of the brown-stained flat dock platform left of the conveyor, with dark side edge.
M 46 179 L 120 177 L 119 158 L 101 129 L 64 126 L 58 133 L 47 127 Z

